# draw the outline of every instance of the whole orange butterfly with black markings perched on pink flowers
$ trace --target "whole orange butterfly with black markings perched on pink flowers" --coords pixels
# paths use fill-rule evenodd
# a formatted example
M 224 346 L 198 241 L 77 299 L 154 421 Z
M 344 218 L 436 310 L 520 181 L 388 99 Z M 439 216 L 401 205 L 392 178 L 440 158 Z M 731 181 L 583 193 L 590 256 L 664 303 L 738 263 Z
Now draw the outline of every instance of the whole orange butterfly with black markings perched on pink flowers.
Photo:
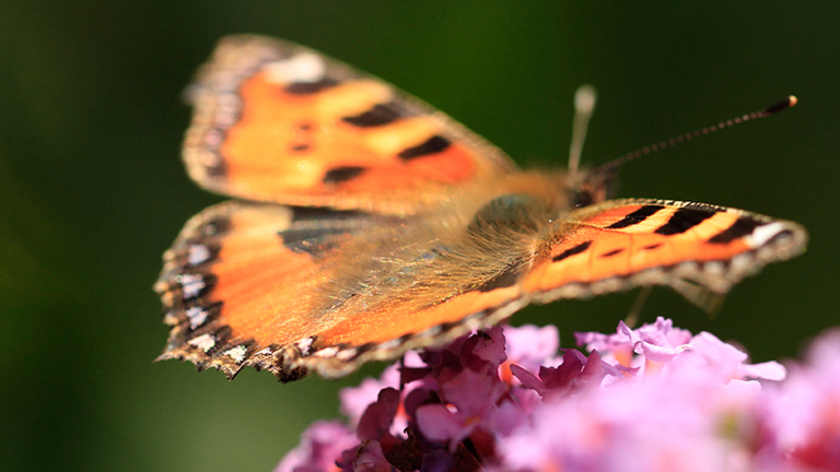
M 184 161 L 231 200 L 154 285 L 160 359 L 335 378 L 529 303 L 668 285 L 701 305 L 801 253 L 796 223 L 608 200 L 614 172 L 528 172 L 422 102 L 305 47 L 220 42 L 188 88 Z

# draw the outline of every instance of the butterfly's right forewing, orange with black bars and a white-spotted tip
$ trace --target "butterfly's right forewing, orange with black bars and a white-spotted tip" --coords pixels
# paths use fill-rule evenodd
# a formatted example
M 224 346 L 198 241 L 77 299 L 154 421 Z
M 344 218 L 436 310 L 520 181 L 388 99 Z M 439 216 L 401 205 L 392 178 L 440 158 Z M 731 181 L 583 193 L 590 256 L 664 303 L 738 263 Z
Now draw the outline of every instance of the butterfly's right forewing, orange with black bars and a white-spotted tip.
M 538 300 L 669 285 L 704 306 L 769 262 L 805 247 L 796 223 L 743 210 L 664 200 L 615 200 L 572 213 L 523 281 Z

